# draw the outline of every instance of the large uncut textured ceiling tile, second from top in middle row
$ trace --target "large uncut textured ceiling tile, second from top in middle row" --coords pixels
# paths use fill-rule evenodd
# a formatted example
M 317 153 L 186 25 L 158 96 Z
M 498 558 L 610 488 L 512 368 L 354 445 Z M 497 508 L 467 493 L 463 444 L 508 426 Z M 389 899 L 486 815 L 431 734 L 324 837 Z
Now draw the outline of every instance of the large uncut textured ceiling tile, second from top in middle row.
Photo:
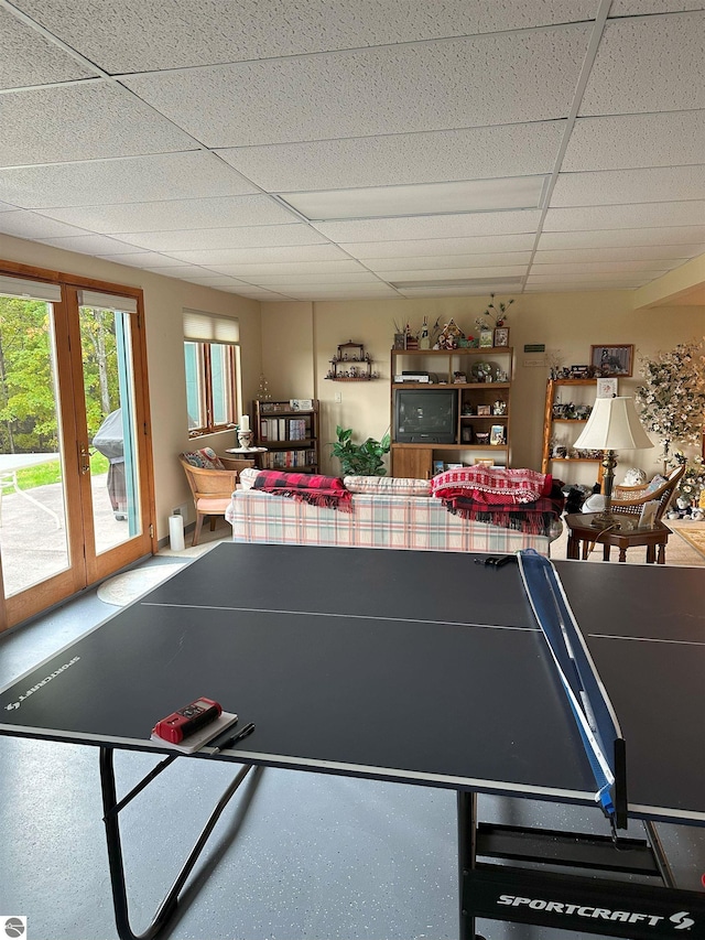
M 123 80 L 215 148 L 523 123 L 565 117 L 588 39 L 575 24 Z

